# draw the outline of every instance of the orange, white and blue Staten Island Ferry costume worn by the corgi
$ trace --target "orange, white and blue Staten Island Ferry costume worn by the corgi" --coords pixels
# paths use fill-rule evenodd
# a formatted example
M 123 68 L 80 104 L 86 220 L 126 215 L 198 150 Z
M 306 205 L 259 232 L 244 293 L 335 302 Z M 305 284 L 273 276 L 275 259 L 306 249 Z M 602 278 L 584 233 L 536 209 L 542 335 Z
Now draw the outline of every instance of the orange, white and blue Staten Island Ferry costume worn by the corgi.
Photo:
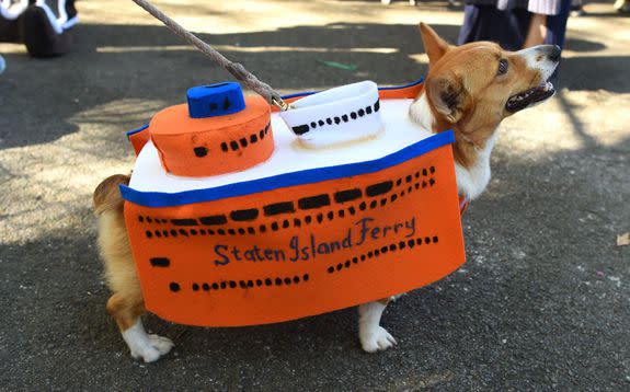
M 413 124 L 422 82 L 285 99 L 237 83 L 128 134 L 121 186 L 148 311 L 206 326 L 294 320 L 431 284 L 465 262 L 450 143 Z

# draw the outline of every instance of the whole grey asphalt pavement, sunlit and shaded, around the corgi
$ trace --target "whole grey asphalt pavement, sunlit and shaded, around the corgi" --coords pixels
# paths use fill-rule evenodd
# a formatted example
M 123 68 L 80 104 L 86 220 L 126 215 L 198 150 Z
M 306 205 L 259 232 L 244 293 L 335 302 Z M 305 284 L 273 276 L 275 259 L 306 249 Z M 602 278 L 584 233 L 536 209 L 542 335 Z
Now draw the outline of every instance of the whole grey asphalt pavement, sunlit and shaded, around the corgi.
M 417 23 L 454 42 L 462 20 L 440 2 L 156 3 L 285 93 L 415 80 Z M 78 7 L 65 57 L 0 44 L 0 389 L 630 390 L 630 18 L 611 2 L 570 20 L 557 97 L 504 122 L 467 264 L 387 309 L 398 346 L 365 354 L 354 309 L 238 328 L 149 315 L 176 347 L 147 365 L 104 309 L 91 194 L 131 168 L 125 131 L 229 74 L 130 1 Z

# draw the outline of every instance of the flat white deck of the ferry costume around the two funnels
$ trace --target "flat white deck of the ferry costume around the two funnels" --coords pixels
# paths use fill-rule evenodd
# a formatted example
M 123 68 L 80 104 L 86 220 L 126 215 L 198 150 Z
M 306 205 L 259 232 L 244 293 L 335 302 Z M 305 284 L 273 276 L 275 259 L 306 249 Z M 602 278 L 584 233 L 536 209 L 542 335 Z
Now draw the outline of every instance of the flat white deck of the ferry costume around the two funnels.
M 381 100 L 383 129 L 374 138 L 324 149 L 302 147 L 277 113 L 272 114 L 275 150 L 263 163 L 242 172 L 209 177 L 183 177 L 167 173 L 151 141 L 140 151 L 129 187 L 139 192 L 179 193 L 271 177 L 309 169 L 371 161 L 429 137 L 413 124 L 408 109 L 413 100 Z

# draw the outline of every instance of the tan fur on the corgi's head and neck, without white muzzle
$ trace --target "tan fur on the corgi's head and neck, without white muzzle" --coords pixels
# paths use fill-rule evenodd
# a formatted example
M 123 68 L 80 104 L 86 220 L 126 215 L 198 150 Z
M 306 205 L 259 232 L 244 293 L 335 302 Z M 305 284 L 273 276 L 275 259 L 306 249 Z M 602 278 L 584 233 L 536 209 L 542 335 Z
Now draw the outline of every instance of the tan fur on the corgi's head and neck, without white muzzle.
M 433 130 L 453 129 L 455 159 L 470 168 L 499 124 L 512 115 L 505 111 L 505 102 L 538 85 L 540 73 L 494 43 L 455 47 L 424 23 L 420 31 L 429 64 L 425 91 L 436 118 Z M 509 71 L 497 78 L 501 59 L 508 61 Z

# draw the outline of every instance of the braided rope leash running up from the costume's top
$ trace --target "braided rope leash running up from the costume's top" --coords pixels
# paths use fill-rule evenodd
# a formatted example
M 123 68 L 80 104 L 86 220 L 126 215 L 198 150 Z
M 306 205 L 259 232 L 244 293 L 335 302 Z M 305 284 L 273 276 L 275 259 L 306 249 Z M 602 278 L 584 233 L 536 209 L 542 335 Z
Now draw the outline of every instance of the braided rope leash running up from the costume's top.
M 181 24 L 173 21 L 162 11 L 158 10 L 149 1 L 147 0 L 133 0 L 133 1 L 136 4 L 140 5 L 142 9 L 145 9 L 148 13 L 153 15 L 156 19 L 161 21 L 173 33 L 177 34 L 179 36 L 184 38 L 188 44 L 199 49 L 204 55 L 206 55 L 207 58 L 215 61 L 219 66 L 224 67 L 234 78 L 237 78 L 238 80 L 243 82 L 243 84 L 245 84 L 248 88 L 250 88 L 251 90 L 260 94 L 262 97 L 264 97 L 270 104 L 274 104 L 279 108 L 282 108 L 283 111 L 286 111 L 288 108 L 288 105 L 283 101 L 280 94 L 278 94 L 277 91 L 272 89 L 272 87 L 268 85 L 267 83 L 260 81 L 255 76 L 253 76 L 250 71 L 248 71 L 245 67 L 243 67 L 241 64 L 228 60 L 224 55 L 213 49 L 210 45 L 206 44 L 197 36 L 195 36 L 193 33 L 184 28 Z

